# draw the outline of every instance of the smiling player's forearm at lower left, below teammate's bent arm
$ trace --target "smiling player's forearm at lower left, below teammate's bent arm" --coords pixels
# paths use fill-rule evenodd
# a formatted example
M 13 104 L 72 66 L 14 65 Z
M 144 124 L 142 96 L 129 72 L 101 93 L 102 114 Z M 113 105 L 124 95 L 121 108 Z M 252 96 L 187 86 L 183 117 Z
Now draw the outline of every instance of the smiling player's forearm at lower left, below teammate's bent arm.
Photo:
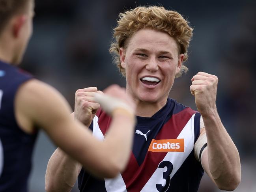
M 47 192 L 70 192 L 81 167 L 60 148 L 56 149 L 47 165 L 45 190 Z

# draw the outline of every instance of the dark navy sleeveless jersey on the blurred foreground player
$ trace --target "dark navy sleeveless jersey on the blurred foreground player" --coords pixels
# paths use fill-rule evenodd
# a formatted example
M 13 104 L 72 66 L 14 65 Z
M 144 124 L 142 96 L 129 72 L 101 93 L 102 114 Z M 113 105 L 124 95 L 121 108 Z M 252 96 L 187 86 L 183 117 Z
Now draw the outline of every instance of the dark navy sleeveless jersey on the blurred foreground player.
M 14 100 L 31 75 L 0 61 L 0 192 L 27 192 L 37 132 L 27 134 L 17 125 Z

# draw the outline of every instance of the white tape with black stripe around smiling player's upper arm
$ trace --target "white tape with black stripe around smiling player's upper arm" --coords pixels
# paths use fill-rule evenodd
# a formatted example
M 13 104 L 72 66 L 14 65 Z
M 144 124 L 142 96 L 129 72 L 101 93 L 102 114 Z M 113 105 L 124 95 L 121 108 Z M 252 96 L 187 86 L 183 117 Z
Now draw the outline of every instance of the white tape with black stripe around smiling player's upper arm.
M 202 155 L 204 151 L 207 149 L 207 138 L 206 133 L 200 135 L 194 144 L 194 155 L 196 160 L 201 162 Z

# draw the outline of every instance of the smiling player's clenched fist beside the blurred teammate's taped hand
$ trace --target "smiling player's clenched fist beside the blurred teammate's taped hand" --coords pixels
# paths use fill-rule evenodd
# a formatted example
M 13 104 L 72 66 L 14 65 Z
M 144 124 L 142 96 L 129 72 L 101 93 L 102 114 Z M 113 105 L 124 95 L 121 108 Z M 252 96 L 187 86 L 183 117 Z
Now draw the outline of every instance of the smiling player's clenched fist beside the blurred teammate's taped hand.
M 87 127 L 92 123 L 92 119 L 100 107 L 99 103 L 94 102 L 95 93 L 103 94 L 96 87 L 78 89 L 75 93 L 74 116 Z

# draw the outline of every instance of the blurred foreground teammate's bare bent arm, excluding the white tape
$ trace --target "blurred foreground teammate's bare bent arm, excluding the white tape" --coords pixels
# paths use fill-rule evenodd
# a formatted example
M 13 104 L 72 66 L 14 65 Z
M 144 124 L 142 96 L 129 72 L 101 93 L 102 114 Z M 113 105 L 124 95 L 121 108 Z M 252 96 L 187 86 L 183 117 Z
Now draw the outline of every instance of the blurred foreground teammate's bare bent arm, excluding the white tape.
M 110 89 L 120 93 L 121 99 L 127 99 L 127 103 L 131 102 L 129 104 L 133 106 L 131 99 L 121 93 L 120 88 Z M 21 127 L 28 125 L 27 132 L 35 125 L 41 127 L 56 145 L 81 162 L 92 174 L 114 177 L 125 168 L 135 125 L 131 112 L 113 112 L 112 131 L 109 131 L 105 142 L 100 142 L 80 122 L 70 117 L 71 108 L 65 99 L 38 80 L 30 80 L 21 86 L 15 99 L 15 112 Z

